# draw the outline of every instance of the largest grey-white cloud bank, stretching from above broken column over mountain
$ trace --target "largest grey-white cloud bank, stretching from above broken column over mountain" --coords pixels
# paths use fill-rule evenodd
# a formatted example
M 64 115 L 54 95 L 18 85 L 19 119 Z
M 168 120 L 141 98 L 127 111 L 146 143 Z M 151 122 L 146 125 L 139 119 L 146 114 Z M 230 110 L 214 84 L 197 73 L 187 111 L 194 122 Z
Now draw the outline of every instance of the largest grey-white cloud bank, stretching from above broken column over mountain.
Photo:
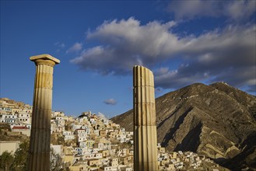
M 230 25 L 187 37 L 174 33 L 176 25 L 158 21 L 142 25 L 134 18 L 106 21 L 86 37 L 101 45 L 83 50 L 71 62 L 103 75 L 126 75 L 133 65 L 144 65 L 154 70 L 156 86 L 164 89 L 200 81 L 256 86 L 249 81 L 256 77 L 255 25 Z M 173 61 L 181 65 L 174 68 Z

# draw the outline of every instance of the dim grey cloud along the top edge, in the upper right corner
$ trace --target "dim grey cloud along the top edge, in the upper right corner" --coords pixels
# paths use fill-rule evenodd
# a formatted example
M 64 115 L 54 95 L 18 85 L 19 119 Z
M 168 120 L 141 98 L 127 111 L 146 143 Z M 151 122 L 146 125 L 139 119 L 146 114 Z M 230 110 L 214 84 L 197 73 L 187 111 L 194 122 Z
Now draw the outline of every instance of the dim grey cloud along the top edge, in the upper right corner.
M 255 6 L 256 2 L 254 0 L 172 1 L 167 7 L 167 11 L 173 12 L 176 19 L 193 19 L 201 16 L 226 16 L 228 19 L 241 22 L 255 12 Z

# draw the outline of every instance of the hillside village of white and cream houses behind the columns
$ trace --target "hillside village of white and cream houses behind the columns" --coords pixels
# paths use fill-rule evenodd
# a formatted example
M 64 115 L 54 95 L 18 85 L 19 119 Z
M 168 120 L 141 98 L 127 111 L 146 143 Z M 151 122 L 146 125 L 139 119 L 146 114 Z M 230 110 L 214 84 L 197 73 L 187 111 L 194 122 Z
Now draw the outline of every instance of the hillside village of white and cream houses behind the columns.
M 0 124 L 9 124 L 11 131 L 2 134 L 23 134 L 30 137 L 32 106 L 12 99 L 0 99 Z M 15 152 L 21 140 L 0 139 L 0 156 Z M 90 111 L 79 117 L 64 112 L 51 113 L 51 159 L 61 162 L 61 170 L 71 171 L 132 171 L 133 132 Z M 157 144 L 159 170 L 228 170 L 194 152 L 167 152 Z

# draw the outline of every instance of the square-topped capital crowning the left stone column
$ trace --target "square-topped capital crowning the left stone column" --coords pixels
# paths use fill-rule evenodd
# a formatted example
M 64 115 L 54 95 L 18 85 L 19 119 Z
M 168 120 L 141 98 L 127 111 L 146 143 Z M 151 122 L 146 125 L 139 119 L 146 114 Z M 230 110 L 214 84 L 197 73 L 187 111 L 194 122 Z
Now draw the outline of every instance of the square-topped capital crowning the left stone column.
M 30 57 L 30 61 L 35 62 L 36 65 L 58 65 L 61 61 L 57 58 L 54 58 L 50 54 L 39 54 L 36 56 Z

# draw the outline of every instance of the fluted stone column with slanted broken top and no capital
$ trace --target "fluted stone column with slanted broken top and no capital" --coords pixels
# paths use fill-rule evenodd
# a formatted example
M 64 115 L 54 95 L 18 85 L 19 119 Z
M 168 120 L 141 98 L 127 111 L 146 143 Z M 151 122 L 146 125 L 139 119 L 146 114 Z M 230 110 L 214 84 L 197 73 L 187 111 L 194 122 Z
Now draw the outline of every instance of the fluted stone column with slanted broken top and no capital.
M 134 169 L 156 171 L 156 106 L 153 72 L 133 68 Z

